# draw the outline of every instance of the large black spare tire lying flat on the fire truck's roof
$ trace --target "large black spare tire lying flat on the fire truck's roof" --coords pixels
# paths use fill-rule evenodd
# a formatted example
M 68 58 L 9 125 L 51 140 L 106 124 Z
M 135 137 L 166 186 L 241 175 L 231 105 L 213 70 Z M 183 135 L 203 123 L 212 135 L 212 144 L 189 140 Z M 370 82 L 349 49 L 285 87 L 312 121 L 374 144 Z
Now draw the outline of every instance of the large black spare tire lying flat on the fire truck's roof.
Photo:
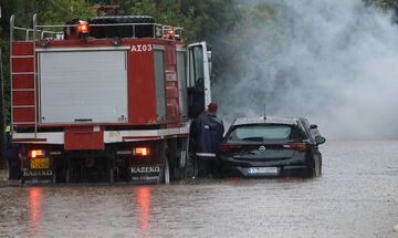
M 90 24 L 118 24 L 118 23 L 148 23 L 148 25 L 136 25 L 136 38 L 151 38 L 154 37 L 155 19 L 148 15 L 113 15 L 113 17 L 97 17 L 88 20 Z M 94 38 L 132 38 L 134 37 L 133 28 L 130 25 L 108 25 L 108 27 L 92 27 L 90 37 Z

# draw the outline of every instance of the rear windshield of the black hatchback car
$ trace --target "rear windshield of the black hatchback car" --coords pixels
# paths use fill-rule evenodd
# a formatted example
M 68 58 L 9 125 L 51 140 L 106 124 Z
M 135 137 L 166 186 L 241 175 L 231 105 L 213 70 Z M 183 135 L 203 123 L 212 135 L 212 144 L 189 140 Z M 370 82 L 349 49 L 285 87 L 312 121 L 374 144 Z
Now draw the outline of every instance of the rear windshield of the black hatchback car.
M 286 139 L 294 137 L 294 131 L 290 125 L 242 125 L 232 131 L 229 138 L 232 141 Z

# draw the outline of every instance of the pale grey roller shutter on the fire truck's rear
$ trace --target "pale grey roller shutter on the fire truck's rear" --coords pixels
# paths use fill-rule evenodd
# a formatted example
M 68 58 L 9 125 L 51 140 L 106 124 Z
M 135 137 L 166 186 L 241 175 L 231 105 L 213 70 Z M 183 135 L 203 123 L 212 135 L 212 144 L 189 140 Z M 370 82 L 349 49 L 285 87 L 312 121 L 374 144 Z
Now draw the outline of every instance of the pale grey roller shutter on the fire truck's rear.
M 41 123 L 127 122 L 126 61 L 126 51 L 41 52 Z

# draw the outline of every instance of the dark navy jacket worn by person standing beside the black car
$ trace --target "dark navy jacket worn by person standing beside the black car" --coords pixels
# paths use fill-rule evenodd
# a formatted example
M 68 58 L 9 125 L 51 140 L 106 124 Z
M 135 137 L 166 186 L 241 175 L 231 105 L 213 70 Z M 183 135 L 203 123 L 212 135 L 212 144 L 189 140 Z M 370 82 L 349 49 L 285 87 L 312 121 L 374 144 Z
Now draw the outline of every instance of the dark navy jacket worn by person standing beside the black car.
M 196 155 L 201 159 L 213 159 L 219 149 L 224 128 L 221 120 L 203 114 L 195 122 Z

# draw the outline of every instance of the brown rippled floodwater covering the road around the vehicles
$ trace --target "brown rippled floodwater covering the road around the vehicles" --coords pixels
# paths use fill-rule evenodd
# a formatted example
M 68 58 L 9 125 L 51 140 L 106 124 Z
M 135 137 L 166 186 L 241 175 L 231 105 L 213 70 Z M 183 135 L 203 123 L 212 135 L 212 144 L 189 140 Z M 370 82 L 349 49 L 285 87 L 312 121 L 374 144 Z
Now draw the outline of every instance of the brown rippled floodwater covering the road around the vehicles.
M 0 188 L 0 237 L 398 237 L 398 141 L 328 141 L 315 179 Z

